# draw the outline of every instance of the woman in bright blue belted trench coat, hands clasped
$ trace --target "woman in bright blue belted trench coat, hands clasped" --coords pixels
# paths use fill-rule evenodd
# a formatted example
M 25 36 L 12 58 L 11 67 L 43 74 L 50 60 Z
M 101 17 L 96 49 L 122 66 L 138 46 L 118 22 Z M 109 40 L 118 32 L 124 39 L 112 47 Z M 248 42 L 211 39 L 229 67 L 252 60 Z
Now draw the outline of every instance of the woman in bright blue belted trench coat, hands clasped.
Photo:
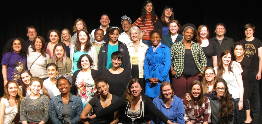
M 144 61 L 145 94 L 154 99 L 160 93 L 161 82 L 169 81 L 170 49 L 160 42 L 160 30 L 151 31 L 150 38 L 152 46 L 146 50 Z

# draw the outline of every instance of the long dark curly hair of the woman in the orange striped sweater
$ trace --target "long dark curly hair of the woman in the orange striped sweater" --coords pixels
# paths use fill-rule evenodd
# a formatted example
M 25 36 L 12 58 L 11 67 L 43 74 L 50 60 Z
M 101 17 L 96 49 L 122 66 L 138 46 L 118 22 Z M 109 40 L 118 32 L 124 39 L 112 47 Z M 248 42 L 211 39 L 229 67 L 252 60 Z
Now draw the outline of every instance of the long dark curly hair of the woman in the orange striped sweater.
M 152 3 L 152 7 L 153 7 L 153 8 L 152 8 L 152 11 L 151 11 L 151 19 L 152 19 L 153 25 L 155 25 L 155 22 L 156 22 L 156 13 L 155 13 L 155 9 L 154 9 L 154 4 L 153 4 L 152 1 L 147 0 L 147 1 L 145 1 L 145 3 L 144 3 L 143 6 L 142 6 L 142 12 L 141 12 L 142 25 L 145 25 L 146 20 L 147 20 L 147 18 L 146 18 L 145 6 L 146 6 L 146 4 L 149 4 L 149 3 Z M 120 32 L 119 32 L 119 33 L 120 33 Z

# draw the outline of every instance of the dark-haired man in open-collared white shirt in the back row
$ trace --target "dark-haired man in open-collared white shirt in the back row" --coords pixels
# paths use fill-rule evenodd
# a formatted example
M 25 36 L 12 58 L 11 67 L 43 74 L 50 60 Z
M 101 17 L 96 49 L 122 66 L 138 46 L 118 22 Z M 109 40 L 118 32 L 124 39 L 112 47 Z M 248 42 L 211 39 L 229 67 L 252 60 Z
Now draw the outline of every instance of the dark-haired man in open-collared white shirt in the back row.
M 103 40 L 109 41 L 109 40 L 110 40 L 110 37 L 106 35 L 106 28 L 108 27 L 108 25 L 109 25 L 109 23 L 110 23 L 110 19 L 109 19 L 109 16 L 108 16 L 107 13 L 103 13 L 103 14 L 101 15 L 100 23 L 101 23 L 101 25 L 100 25 L 99 28 L 104 31 L 104 38 L 103 38 Z M 91 35 L 92 35 L 92 37 L 94 37 L 94 35 L 95 35 L 95 29 L 92 30 Z

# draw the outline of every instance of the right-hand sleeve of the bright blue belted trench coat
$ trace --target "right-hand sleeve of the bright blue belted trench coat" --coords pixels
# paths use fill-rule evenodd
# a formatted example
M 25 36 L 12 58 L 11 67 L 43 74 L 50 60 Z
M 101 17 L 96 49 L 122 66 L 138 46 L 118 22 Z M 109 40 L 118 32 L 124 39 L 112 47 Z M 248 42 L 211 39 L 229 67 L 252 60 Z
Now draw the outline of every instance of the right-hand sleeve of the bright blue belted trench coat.
M 171 66 L 170 49 L 167 46 L 164 49 L 165 66 L 163 69 L 161 69 L 162 71 L 160 72 L 160 75 L 157 77 L 160 81 L 163 81 L 167 77 Z

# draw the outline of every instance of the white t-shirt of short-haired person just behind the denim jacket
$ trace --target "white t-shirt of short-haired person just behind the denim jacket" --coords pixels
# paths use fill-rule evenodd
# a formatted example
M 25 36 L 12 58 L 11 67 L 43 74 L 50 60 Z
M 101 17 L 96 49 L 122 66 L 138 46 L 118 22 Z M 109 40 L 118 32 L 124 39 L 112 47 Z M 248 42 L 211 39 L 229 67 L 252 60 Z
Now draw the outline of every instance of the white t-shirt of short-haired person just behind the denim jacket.
M 46 89 L 47 89 L 47 92 L 50 96 L 50 99 L 52 99 L 54 96 L 57 96 L 59 94 L 61 94 L 59 92 L 59 89 L 56 88 L 56 84 L 52 85 L 52 82 L 51 82 L 51 78 L 47 78 L 43 84 L 45 85 Z

